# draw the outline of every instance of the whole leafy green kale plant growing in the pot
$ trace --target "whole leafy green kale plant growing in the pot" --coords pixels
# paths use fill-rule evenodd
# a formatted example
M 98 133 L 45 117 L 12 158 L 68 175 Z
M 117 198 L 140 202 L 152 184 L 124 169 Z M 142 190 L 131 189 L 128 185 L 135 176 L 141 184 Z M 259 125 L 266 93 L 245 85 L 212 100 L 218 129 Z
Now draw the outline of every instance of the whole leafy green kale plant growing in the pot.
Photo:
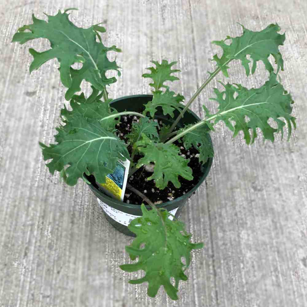
M 159 189 L 164 189 L 169 182 L 176 188 L 180 187 L 178 177 L 192 180 L 192 169 L 188 166 L 189 159 L 181 157 L 179 148 L 174 144 L 176 140 L 183 143 L 188 150 L 194 146 L 199 151 L 200 163 L 205 163 L 213 157 L 213 148 L 209 133 L 214 131 L 214 125 L 223 121 L 233 132 L 233 137 L 239 131 L 244 134 L 247 144 L 257 138 L 257 128 L 262 132 L 263 138 L 274 141 L 274 134 L 283 136 L 284 126 L 288 127 L 288 140 L 292 126 L 295 128 L 295 117 L 291 116 L 293 100 L 280 80 L 278 72 L 283 70 L 283 59 L 279 46 L 285 41 L 285 34 L 279 34 L 280 27 L 270 24 L 265 29 L 257 32 L 246 29 L 243 25 L 243 34 L 239 37 L 227 36 L 221 41 L 213 41 L 223 49 L 219 58 L 214 55 L 212 61 L 216 62 L 216 69 L 208 72 L 208 79 L 195 92 L 188 103 L 183 104 L 185 97 L 169 89 L 166 81 L 179 80 L 173 73 L 180 72 L 172 69 L 176 62 L 161 63 L 152 61 L 155 67 L 147 68 L 150 73 L 143 74 L 144 78 L 152 79 L 149 85 L 153 87 L 153 99 L 145 104 L 143 113 L 118 112 L 110 103 L 106 86 L 116 82 L 115 77 L 107 78 L 108 70 L 119 72 L 116 60 L 108 60 L 107 52 L 121 52 L 116 46 L 103 45 L 100 33 L 106 30 L 102 26 L 92 25 L 87 29 L 79 28 L 68 19 L 67 9 L 59 11 L 55 16 L 47 15 L 48 22 L 34 17 L 33 23 L 18 29 L 13 37 L 13 42 L 24 44 L 35 38 L 47 38 L 51 48 L 44 52 L 29 49 L 33 56 L 30 73 L 38 69 L 48 60 L 56 58 L 60 67 L 60 79 L 67 88 L 65 99 L 70 100 L 71 111 L 64 106 L 60 112 L 63 125 L 56 128 L 55 143 L 49 146 L 40 142 L 44 160 L 49 160 L 47 167 L 50 173 L 60 172 L 61 177 L 68 185 L 76 185 L 83 174 L 94 175 L 96 181 L 105 182 L 107 174 L 115 169 L 119 158 L 131 161 L 131 176 L 137 169 L 144 165 L 153 164 L 153 174 L 148 180 L 155 180 Z M 229 44 L 225 42 L 228 41 Z M 252 68 L 250 69 L 250 60 Z M 276 72 L 269 61 L 272 55 L 277 66 Z M 254 74 L 257 62 L 262 61 L 268 72 L 268 80 L 259 88 L 248 89 L 241 84 L 222 84 L 223 91 L 214 89 L 218 104 L 216 113 L 211 114 L 204 105 L 205 118 L 195 124 L 189 124 L 177 129 L 177 123 L 188 107 L 209 84 L 209 82 L 222 72 L 228 77 L 232 60 L 240 60 L 245 68 L 246 75 Z M 72 65 L 82 63 L 82 68 L 75 69 Z M 85 80 L 91 84 L 92 93 L 85 97 L 80 84 Z M 164 115 L 173 119 L 172 126 L 164 125 L 157 130 L 154 121 L 157 107 L 161 107 Z M 179 111 L 179 116 L 174 117 L 174 111 Z M 139 122 L 134 123 L 128 135 L 129 143 L 126 144 L 116 134 L 116 124 L 122 115 L 136 115 Z M 268 120 L 273 119 L 277 128 L 273 128 Z M 132 146 L 132 154 L 127 146 Z M 136 153 L 142 157 L 135 161 Z M 122 157 L 123 156 L 123 157 Z M 85 180 L 85 179 L 84 179 Z M 133 272 L 144 270 L 146 275 L 130 283 L 137 284 L 148 282 L 148 295 L 154 297 L 161 285 L 173 300 L 178 299 L 178 283 L 187 280 L 184 271 L 188 268 L 193 249 L 203 247 L 203 243 L 191 243 L 191 234 L 185 231 L 184 223 L 178 221 L 166 209 L 157 208 L 146 196 L 133 187 L 128 187 L 138 193 L 147 201 L 152 210 L 147 210 L 141 205 L 143 216 L 132 220 L 129 229 L 137 236 L 130 246 L 126 246 L 132 260 L 138 257 L 138 262 L 124 264 L 122 270 Z M 154 240 L 152 238 L 155 238 Z M 142 243 L 145 244 L 141 248 Z M 185 263 L 181 258 L 185 258 Z M 175 285 L 170 281 L 175 279 Z

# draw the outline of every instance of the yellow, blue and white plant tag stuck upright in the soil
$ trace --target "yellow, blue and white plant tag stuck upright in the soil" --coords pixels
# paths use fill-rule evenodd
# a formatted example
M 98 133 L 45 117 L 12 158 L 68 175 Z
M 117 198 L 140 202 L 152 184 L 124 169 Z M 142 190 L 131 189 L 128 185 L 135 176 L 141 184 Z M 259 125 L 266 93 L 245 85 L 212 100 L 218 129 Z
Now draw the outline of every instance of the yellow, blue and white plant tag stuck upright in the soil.
M 101 183 L 103 191 L 116 199 L 124 200 L 126 184 L 128 179 L 130 161 L 118 159 L 113 173 L 106 176 L 106 183 Z

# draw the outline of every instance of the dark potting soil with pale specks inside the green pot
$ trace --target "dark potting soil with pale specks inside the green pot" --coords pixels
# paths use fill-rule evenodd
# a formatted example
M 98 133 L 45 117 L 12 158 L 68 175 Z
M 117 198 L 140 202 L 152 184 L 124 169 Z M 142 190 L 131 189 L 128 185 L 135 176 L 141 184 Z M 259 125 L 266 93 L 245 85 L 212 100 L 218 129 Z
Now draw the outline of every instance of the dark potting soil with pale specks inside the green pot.
M 116 129 L 118 129 L 118 136 L 122 140 L 124 140 L 127 143 L 126 134 L 130 133 L 131 127 L 133 122 L 138 121 L 136 116 L 128 115 L 128 116 L 122 116 L 120 119 L 120 124 L 117 124 Z M 162 122 L 158 122 L 159 126 L 162 126 Z M 194 147 L 190 148 L 189 150 L 186 150 L 183 147 L 183 144 L 175 141 L 173 144 L 177 145 L 180 148 L 181 154 L 185 155 L 185 157 L 190 158 L 190 162 L 188 163 L 188 166 L 192 169 L 193 173 L 193 180 L 188 181 L 185 178 L 179 176 L 178 180 L 181 183 L 180 188 L 175 188 L 174 185 L 169 182 L 167 187 L 163 190 L 159 190 L 155 187 L 154 180 L 147 181 L 147 177 L 150 177 L 153 173 L 147 172 L 145 170 L 145 166 L 138 169 L 130 178 L 128 178 L 128 183 L 142 192 L 144 195 L 146 195 L 153 203 L 155 202 L 167 202 L 170 200 L 173 200 L 175 198 L 178 198 L 188 191 L 190 191 L 199 181 L 200 177 L 203 175 L 203 165 L 199 162 L 198 157 L 195 155 L 198 154 L 198 150 L 196 150 Z M 128 151 L 131 155 L 131 146 L 128 146 Z M 138 161 L 142 156 L 136 154 L 134 156 L 134 162 Z M 95 178 L 94 176 L 89 176 L 88 178 L 91 183 L 99 189 L 99 186 L 95 184 Z M 134 192 L 131 192 L 128 188 L 126 188 L 125 197 L 123 200 L 125 203 L 130 204 L 142 204 L 144 200 L 138 195 L 136 195 Z

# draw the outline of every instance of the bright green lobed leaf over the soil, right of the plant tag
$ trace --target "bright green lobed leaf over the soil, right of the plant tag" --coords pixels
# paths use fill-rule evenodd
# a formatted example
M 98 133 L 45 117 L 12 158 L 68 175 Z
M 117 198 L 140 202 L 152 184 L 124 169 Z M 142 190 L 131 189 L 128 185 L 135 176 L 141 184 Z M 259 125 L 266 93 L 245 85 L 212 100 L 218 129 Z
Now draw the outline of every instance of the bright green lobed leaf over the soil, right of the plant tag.
M 155 143 L 142 134 L 142 140 L 137 142 L 136 146 L 138 146 L 138 151 L 144 154 L 144 157 L 138 160 L 136 167 L 140 168 L 143 165 L 154 163 L 153 175 L 147 180 L 154 179 L 157 188 L 163 190 L 169 181 L 176 188 L 180 188 L 178 176 L 187 180 L 193 179 L 192 169 L 188 166 L 190 159 L 181 157 L 176 145 Z

